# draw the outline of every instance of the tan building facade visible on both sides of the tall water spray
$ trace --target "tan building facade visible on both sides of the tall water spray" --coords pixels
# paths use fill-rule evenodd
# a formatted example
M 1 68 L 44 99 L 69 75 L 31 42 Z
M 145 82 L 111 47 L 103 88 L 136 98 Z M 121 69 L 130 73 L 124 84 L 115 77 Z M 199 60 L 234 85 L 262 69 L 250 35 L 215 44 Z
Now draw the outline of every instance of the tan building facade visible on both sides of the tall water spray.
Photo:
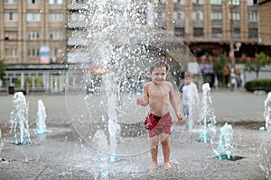
M 4 84 L 61 91 L 59 78 L 66 65 L 89 60 L 88 2 L 0 1 L 0 59 L 8 65 Z M 142 16 L 149 20 L 143 22 L 172 31 L 199 63 L 211 63 L 221 54 L 230 57 L 231 53 L 234 62 L 243 63 L 259 51 L 271 53 L 270 0 L 140 2 L 147 4 Z M 19 72 L 20 66 L 23 72 Z

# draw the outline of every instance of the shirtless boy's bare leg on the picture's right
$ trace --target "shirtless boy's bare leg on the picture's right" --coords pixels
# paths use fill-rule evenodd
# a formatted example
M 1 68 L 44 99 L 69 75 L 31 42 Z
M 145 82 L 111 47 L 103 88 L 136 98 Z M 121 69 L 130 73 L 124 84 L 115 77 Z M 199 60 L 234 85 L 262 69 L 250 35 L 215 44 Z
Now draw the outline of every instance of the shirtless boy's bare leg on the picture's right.
M 164 169 L 169 170 L 172 168 L 170 165 L 170 154 L 171 154 L 171 145 L 169 140 L 169 134 L 162 133 L 161 134 L 161 144 L 163 148 L 163 154 L 164 154 Z

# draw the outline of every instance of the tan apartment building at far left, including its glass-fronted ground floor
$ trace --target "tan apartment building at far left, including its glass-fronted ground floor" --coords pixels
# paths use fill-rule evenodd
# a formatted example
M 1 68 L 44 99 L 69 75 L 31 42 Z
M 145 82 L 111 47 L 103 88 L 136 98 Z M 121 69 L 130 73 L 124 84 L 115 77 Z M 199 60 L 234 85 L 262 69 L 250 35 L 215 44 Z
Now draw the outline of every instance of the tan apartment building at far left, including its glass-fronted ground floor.
M 4 85 L 61 89 L 57 64 L 66 62 L 66 1 L 1 0 L 0 59 Z

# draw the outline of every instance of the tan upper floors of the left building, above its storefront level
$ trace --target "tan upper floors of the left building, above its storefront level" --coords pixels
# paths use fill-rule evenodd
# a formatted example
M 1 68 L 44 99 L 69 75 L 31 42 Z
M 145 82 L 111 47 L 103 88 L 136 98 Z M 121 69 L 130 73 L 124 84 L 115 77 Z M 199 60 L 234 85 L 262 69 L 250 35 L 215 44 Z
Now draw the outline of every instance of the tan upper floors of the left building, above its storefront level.
M 63 0 L 0 1 L 1 53 L 6 64 L 65 62 Z

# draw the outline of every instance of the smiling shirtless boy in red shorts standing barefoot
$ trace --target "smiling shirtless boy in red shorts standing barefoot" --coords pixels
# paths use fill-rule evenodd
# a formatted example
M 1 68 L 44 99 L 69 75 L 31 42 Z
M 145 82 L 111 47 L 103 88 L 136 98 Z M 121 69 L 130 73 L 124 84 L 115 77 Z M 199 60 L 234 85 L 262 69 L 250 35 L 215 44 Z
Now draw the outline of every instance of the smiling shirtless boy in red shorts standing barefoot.
M 164 169 L 169 170 L 172 168 L 169 162 L 171 150 L 169 134 L 171 133 L 173 121 L 169 113 L 169 103 L 172 103 L 178 122 L 182 121 L 182 115 L 174 99 L 173 85 L 165 81 L 167 71 L 168 67 L 163 61 L 154 61 L 150 67 L 152 81 L 144 85 L 144 98 L 136 100 L 136 103 L 139 105 L 149 105 L 150 111 L 147 118 L 158 121 L 156 126 L 149 130 L 153 160 L 153 164 L 149 166 L 150 170 L 154 170 L 157 167 L 159 135 L 164 154 Z

